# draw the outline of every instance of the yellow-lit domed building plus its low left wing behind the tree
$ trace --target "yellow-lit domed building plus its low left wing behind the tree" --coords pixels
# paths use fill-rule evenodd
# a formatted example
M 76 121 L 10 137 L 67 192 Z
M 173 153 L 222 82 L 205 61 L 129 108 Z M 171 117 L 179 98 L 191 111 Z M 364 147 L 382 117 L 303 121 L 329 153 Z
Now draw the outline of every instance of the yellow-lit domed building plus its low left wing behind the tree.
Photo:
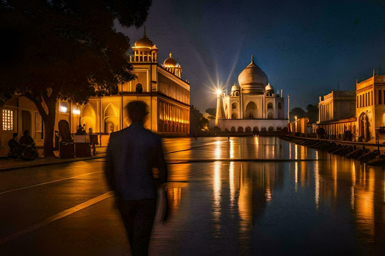
M 190 84 L 182 79 L 182 67 L 172 58 L 158 63 L 158 49 L 147 38 L 146 31 L 132 46 L 134 54 L 130 64 L 137 78 L 119 85 L 119 93 L 105 97 L 91 97 L 84 105 L 58 101 L 56 106 L 55 130 L 62 119 L 69 122 L 70 132 L 85 124 L 86 132 L 92 128 L 100 133 L 102 144 L 108 143 L 109 134 L 128 127 L 131 122 L 125 106 L 130 101 L 144 101 L 147 114 L 144 126 L 154 133 L 170 136 L 184 136 L 190 129 Z M 36 145 L 44 142 L 44 123 L 35 104 L 18 94 L 0 106 L 3 113 L 0 132 L 0 155 L 7 155 L 8 140 L 14 132 L 18 138 L 29 130 Z M 52 138 L 54 139 L 54 138 Z M 42 151 L 41 151 L 42 152 Z M 40 152 L 40 153 L 41 153 Z

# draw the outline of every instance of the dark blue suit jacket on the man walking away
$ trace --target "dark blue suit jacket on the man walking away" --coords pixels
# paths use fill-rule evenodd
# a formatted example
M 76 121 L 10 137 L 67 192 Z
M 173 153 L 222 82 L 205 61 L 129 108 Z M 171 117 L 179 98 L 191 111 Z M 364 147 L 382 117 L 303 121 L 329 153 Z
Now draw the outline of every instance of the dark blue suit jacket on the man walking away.
M 157 179 L 153 167 L 159 169 Z M 161 137 L 139 122 L 111 133 L 105 174 L 120 200 L 156 198 L 157 185 L 167 182 Z

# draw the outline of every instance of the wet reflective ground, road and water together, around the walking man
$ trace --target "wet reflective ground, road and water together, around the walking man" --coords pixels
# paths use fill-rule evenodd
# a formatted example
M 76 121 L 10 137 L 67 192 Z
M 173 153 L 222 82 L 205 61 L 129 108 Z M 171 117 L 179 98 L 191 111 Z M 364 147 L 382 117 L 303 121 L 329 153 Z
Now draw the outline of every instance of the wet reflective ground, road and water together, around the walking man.
M 275 137 L 163 144 L 169 214 L 153 228 L 150 255 L 385 253 L 381 168 Z M 103 166 L 0 172 L 0 254 L 123 255 Z

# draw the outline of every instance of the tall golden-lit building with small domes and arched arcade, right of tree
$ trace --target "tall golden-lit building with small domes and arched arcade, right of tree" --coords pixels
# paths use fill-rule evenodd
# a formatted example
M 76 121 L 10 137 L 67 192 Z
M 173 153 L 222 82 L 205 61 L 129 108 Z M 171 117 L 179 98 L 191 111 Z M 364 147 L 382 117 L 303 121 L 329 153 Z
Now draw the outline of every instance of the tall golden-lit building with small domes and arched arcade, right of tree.
M 119 94 L 92 97 L 88 104 L 75 106 L 78 115 L 72 113 L 72 129 L 85 124 L 86 130 L 106 133 L 124 129 L 131 124 L 124 106 L 130 101 L 144 101 L 148 114 L 144 126 L 164 135 L 189 133 L 190 84 L 182 79 L 182 67 L 172 58 L 158 63 L 158 48 L 146 35 L 132 46 L 130 63 L 136 79 L 119 85 Z

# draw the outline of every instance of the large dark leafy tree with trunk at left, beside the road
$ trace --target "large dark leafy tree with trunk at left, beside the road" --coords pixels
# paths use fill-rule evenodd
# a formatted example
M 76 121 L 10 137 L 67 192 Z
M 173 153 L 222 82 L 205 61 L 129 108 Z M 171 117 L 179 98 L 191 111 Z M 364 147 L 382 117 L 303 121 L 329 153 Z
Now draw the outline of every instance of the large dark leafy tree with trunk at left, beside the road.
M 139 27 L 151 0 L 7 0 L 0 2 L 3 46 L 0 97 L 33 101 L 45 127 L 44 154 L 53 155 L 57 100 L 83 104 L 116 94 L 135 78 L 129 38 L 114 29 Z

